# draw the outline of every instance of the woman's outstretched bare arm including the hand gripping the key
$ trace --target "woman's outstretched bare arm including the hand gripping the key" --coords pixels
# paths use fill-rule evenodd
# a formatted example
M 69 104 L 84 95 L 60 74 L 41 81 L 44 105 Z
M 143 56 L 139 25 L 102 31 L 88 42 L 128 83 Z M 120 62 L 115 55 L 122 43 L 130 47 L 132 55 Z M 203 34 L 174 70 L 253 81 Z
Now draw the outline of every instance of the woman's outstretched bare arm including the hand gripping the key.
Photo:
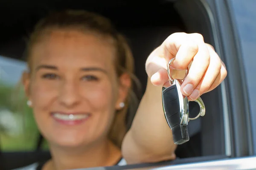
M 182 94 L 189 100 L 216 88 L 227 76 L 224 63 L 214 49 L 204 43 L 200 34 L 170 35 L 146 61 L 147 88 L 122 144 L 122 155 L 128 163 L 175 159 L 176 145 L 163 114 L 161 97 L 162 86 L 169 80 L 166 64 L 173 57 L 173 69 L 185 70 L 189 67 L 189 74 L 181 85 Z M 172 76 L 182 78 L 182 73 L 172 71 Z M 187 84 L 192 85 L 189 92 L 183 89 Z

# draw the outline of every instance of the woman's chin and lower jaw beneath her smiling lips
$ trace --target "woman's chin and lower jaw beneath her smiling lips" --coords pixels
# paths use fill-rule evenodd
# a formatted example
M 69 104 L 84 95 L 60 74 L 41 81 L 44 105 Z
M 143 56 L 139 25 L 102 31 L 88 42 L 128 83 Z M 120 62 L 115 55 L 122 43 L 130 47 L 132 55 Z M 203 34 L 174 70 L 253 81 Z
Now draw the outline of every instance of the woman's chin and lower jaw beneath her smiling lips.
M 93 116 L 79 124 L 63 124 L 53 119 L 48 124 L 39 124 L 40 131 L 51 146 L 87 147 L 107 138 L 108 122 L 93 121 Z M 107 120 L 107 119 L 106 119 Z

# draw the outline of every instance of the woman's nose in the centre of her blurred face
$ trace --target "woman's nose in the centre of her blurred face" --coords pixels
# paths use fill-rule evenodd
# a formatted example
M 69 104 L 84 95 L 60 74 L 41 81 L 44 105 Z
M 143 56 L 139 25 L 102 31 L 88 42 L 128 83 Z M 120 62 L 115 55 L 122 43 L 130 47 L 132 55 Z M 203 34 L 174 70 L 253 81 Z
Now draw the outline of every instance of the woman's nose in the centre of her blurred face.
M 72 108 L 79 104 L 79 87 L 75 82 L 63 82 L 60 87 L 59 101 L 66 108 Z

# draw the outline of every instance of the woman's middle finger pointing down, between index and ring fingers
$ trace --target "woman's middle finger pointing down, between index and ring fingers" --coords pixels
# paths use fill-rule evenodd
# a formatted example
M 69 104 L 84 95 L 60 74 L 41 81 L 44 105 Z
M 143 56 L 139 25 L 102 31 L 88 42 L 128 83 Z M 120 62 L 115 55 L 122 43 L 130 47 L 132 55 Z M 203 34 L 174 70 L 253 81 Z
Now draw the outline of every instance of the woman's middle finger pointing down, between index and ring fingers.
M 198 53 L 195 55 L 189 74 L 182 83 L 181 92 L 185 96 L 189 96 L 197 87 L 210 63 L 210 55 L 205 43 L 198 45 Z

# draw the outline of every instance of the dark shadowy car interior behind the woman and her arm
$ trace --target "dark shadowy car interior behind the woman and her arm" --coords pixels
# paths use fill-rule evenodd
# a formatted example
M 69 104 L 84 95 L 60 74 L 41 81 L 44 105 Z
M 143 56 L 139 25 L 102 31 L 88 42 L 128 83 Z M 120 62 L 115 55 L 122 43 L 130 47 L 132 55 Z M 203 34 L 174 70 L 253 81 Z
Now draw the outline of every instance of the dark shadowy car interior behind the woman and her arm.
M 204 4 L 197 0 L 152 0 L 140 4 L 125 0 L 5 0 L 0 2 L 0 55 L 25 60 L 23 51 L 26 39 L 35 23 L 50 11 L 66 8 L 98 12 L 109 17 L 119 31 L 125 34 L 134 54 L 135 73 L 142 84 L 142 92 L 147 82 L 145 60 L 170 34 L 198 32 L 204 35 L 205 42 L 215 45 L 207 11 Z M 141 97 L 138 95 L 139 99 Z M 190 140 L 179 145 L 176 150 L 180 161 L 194 157 L 225 156 L 221 88 L 201 98 L 207 112 L 204 117 L 189 122 Z M 194 102 L 190 102 L 189 107 L 190 117 L 194 117 L 199 108 Z M 128 115 L 128 127 L 133 117 Z M 0 150 L 0 169 L 14 169 L 49 159 L 50 153 L 41 150 L 43 142 L 43 137 L 38 134 L 34 151 Z

